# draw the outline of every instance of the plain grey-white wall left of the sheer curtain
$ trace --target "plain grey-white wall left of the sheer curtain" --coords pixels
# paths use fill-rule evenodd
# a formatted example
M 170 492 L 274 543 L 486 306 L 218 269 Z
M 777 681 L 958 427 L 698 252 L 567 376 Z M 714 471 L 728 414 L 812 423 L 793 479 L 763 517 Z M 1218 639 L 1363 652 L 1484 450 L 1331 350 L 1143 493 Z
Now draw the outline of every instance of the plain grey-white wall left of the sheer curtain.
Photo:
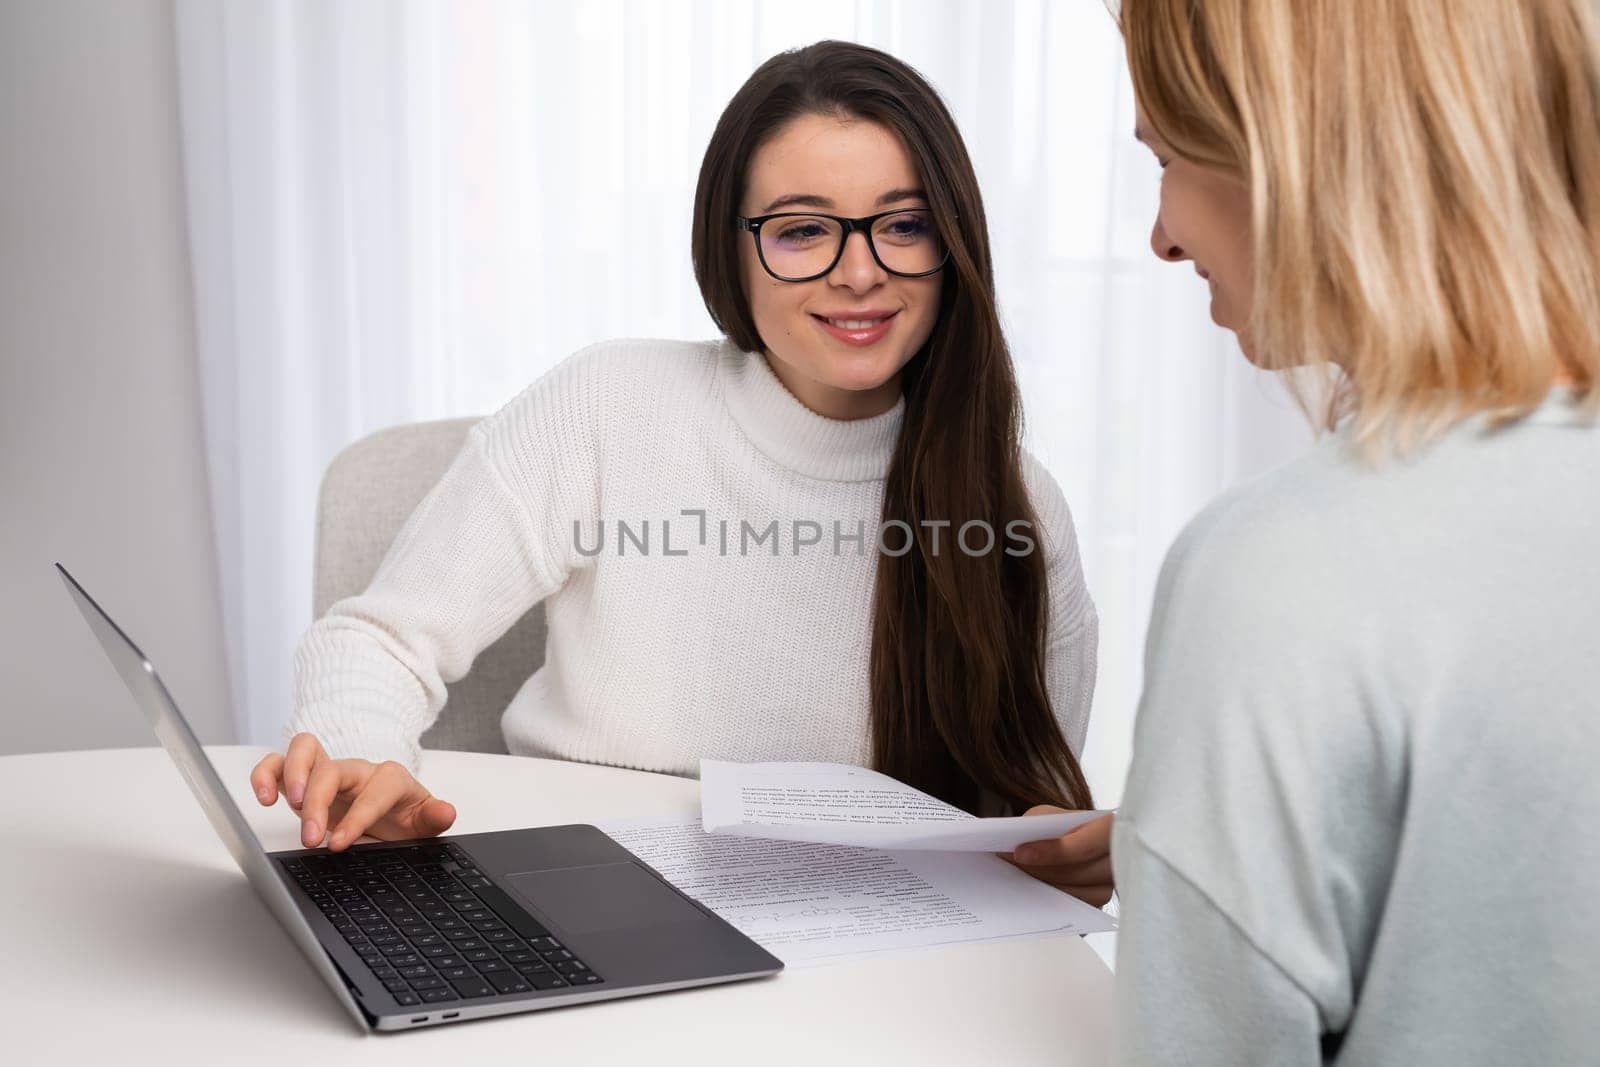
M 170 0 L 0 0 L 0 753 L 155 742 L 56 560 L 234 739 L 198 395 Z

